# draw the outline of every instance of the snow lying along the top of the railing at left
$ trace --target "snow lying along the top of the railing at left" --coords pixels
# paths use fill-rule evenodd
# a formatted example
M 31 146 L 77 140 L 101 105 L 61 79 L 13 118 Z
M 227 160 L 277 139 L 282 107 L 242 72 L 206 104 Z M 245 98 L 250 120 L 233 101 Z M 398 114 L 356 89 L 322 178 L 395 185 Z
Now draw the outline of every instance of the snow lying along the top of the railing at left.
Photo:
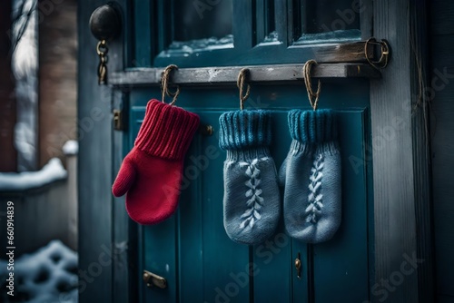
M 41 171 L 0 172 L 0 191 L 25 191 L 66 178 L 62 161 L 51 159 Z

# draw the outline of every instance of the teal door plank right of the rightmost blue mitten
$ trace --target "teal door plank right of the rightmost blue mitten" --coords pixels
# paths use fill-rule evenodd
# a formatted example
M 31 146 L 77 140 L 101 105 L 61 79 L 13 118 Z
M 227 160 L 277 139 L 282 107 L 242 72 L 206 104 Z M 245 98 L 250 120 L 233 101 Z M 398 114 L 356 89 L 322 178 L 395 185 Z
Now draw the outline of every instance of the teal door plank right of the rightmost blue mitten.
M 362 302 L 369 293 L 367 175 L 351 160 L 364 159 L 367 112 L 342 111 L 342 221 L 333 239 L 313 245 L 315 302 Z

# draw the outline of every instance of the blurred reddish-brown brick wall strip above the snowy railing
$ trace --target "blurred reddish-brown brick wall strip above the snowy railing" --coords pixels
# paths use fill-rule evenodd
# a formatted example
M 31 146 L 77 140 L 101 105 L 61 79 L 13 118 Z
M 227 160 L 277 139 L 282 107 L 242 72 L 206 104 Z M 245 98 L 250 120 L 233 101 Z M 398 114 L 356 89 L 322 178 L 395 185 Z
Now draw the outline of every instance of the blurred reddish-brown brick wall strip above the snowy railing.
M 77 1 L 42 6 L 39 24 L 39 165 L 76 133 Z M 94 50 L 95 52 L 95 50 Z M 95 71 L 94 66 L 94 71 Z M 95 73 L 95 72 L 94 72 Z

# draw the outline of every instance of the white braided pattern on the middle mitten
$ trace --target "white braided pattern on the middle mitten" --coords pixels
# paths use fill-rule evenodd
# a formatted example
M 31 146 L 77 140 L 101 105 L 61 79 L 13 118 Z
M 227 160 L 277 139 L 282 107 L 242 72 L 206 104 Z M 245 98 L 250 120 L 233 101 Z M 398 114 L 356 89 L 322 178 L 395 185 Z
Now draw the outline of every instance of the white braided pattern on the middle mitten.
M 249 180 L 244 183 L 249 188 L 245 193 L 245 196 L 248 199 L 246 201 L 248 209 L 242 214 L 240 229 L 244 229 L 246 226 L 249 226 L 252 229 L 254 223 L 262 218 L 262 215 L 259 213 L 259 210 L 262 209 L 263 206 L 263 198 L 261 196 L 262 189 L 260 189 L 262 181 L 260 170 L 257 167 L 258 162 L 258 159 L 254 159 L 251 163 L 240 163 L 242 166 L 248 166 L 245 174 L 249 177 Z

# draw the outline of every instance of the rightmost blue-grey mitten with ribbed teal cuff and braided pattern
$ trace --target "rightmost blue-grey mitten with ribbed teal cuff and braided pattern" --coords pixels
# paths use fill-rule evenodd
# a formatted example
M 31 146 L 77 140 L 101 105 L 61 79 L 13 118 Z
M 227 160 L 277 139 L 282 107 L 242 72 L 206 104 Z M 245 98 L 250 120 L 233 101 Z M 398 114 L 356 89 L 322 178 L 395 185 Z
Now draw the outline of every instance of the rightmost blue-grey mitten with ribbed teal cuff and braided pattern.
M 330 110 L 289 112 L 290 152 L 280 170 L 284 223 L 308 243 L 331 239 L 341 224 L 341 154 Z

